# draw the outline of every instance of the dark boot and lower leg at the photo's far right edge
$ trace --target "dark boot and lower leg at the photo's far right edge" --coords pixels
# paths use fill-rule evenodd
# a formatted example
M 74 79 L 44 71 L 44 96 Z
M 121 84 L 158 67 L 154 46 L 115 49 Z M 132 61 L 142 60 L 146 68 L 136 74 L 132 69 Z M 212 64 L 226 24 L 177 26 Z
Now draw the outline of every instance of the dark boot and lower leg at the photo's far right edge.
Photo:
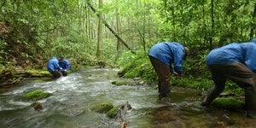
M 256 91 L 245 90 L 245 106 L 247 117 L 256 119 Z

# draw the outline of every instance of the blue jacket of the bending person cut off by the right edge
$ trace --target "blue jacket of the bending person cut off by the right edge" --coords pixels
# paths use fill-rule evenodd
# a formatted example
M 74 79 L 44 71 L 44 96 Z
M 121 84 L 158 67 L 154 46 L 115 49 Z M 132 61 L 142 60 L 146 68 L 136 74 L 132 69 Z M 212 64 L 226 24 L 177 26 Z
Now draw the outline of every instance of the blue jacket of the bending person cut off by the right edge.
M 207 55 L 207 65 L 241 62 L 256 73 L 256 39 L 248 43 L 227 44 L 212 49 Z

